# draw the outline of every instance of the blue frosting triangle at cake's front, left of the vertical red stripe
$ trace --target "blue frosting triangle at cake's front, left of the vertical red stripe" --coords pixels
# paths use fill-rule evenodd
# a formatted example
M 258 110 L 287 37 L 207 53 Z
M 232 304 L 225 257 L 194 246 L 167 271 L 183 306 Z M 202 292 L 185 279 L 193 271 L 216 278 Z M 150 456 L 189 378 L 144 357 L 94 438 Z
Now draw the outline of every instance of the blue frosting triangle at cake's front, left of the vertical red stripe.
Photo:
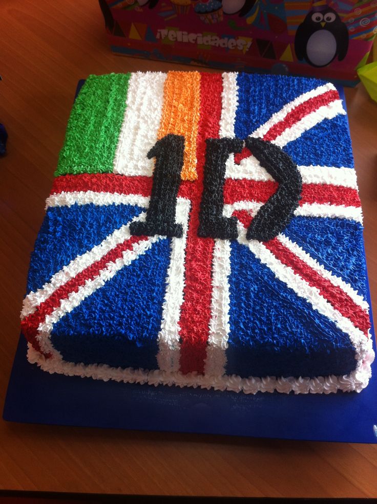
M 54 325 L 68 362 L 156 369 L 170 239 L 153 244 Z

